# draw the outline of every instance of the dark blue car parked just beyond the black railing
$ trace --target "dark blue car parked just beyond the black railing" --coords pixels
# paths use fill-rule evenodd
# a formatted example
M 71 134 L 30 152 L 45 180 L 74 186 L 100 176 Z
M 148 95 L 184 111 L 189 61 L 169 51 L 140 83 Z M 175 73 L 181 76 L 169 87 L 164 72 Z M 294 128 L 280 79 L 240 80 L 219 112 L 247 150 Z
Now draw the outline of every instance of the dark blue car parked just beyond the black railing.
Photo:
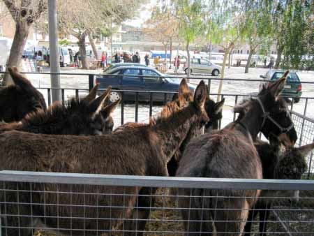
M 165 95 L 160 91 L 177 92 L 181 82 L 178 78 L 164 75 L 154 68 L 144 66 L 119 66 L 110 71 L 105 71 L 103 76 L 97 76 L 95 80 L 100 89 L 106 89 L 111 85 L 112 89 L 116 90 L 110 94 L 110 101 L 112 102 L 121 98 L 119 90 L 156 91 L 152 98 L 154 102 L 171 101 L 174 94 Z M 196 89 L 193 84 L 188 84 L 188 87 L 193 91 Z M 124 92 L 124 101 L 135 101 L 135 99 L 135 92 Z M 138 101 L 149 100 L 150 95 L 148 92 L 138 93 Z

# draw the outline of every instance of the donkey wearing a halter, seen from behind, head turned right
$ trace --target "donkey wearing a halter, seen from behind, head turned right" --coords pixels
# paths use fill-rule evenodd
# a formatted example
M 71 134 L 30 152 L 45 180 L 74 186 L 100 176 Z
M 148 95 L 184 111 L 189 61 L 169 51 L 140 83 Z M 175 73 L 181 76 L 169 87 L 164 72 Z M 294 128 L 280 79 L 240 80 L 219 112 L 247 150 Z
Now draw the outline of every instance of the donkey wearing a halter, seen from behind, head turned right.
M 220 131 L 206 133 L 190 141 L 179 162 L 177 176 L 180 177 L 225 177 L 243 179 L 262 179 L 262 164 L 254 147 L 253 140 L 257 134 L 270 133 L 269 129 L 276 125 L 289 131 L 293 128 L 290 116 L 278 119 L 281 110 L 279 97 L 285 85 L 287 73 L 281 80 L 269 84 L 258 94 L 235 110 L 246 110 L 237 122 Z M 276 115 L 276 116 L 275 116 Z M 270 121 L 270 122 L 267 122 Z M 284 126 L 285 125 L 285 126 Z M 292 127 L 292 128 L 288 128 Z M 274 135 L 278 136 L 274 129 Z M 244 168 L 245 166 L 245 168 Z M 180 196 L 218 196 L 210 198 L 180 198 L 186 235 L 212 235 L 214 229 L 220 235 L 241 235 L 244 230 L 248 209 L 255 204 L 260 191 L 236 191 L 232 189 L 180 189 Z M 235 197 L 231 200 L 219 196 Z M 239 198 L 237 198 L 239 197 Z M 248 197 L 248 198 L 245 198 Z M 253 198 L 252 198 L 253 197 Z M 193 200 L 191 200 L 193 199 Z M 204 200 L 204 202 L 202 202 Z M 196 209 L 188 209 L 196 208 Z M 207 209 L 204 209 L 207 208 Z M 204 210 L 202 210 L 204 209 Z M 220 209 L 219 211 L 209 209 Z M 211 222 L 215 219 L 214 225 Z M 207 222 L 200 222 L 200 221 Z M 195 233 L 197 232 L 197 233 Z M 225 232 L 225 233 L 224 233 Z

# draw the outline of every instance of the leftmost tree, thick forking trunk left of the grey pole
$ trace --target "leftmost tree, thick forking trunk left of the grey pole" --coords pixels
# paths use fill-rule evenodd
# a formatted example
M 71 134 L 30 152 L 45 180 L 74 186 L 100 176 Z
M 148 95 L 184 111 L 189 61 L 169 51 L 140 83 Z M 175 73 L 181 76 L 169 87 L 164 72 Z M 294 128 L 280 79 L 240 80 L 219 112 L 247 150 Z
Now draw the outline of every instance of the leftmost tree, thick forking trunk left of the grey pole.
M 20 67 L 24 46 L 29 36 L 29 29 L 33 22 L 36 22 L 40 15 L 47 10 L 47 0 L 3 0 L 3 3 L 6 4 L 10 15 L 15 21 L 15 34 L 7 67 Z M 6 74 L 4 82 L 7 85 L 13 83 L 8 74 Z

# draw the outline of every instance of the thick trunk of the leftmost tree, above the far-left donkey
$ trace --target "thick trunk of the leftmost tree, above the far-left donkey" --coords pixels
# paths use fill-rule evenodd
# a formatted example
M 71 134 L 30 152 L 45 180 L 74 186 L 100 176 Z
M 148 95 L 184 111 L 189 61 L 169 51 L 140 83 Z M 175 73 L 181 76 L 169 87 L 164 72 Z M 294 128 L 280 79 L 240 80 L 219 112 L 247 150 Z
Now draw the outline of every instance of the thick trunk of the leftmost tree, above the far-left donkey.
M 20 68 L 24 46 L 27 42 L 27 37 L 29 36 L 29 24 L 27 24 L 27 22 L 17 22 L 15 27 L 14 39 L 10 50 L 10 56 L 8 57 L 6 71 L 8 71 L 8 67 L 10 66 L 17 66 L 17 68 Z M 13 84 L 13 80 L 8 73 L 6 73 L 4 83 L 6 85 Z

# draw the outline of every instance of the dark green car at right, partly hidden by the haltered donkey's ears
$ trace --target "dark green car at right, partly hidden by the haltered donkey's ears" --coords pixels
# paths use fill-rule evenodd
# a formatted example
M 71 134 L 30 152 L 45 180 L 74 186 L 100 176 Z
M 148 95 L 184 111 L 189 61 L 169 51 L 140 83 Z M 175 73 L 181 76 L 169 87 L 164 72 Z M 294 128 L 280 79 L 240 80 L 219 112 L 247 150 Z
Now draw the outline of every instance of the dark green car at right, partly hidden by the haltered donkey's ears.
M 271 82 L 275 82 L 283 76 L 285 71 L 282 70 L 270 70 L 267 71 L 265 75 L 260 75 L 260 78 L 263 80 L 270 80 Z M 267 84 L 267 81 L 260 83 L 260 90 L 262 89 L 263 84 Z M 295 72 L 290 72 L 287 76 L 287 81 L 285 83 L 285 89 L 283 89 L 283 93 L 281 96 L 290 97 L 294 99 L 295 103 L 300 101 L 300 97 L 302 94 L 302 84 L 299 79 L 299 76 Z

